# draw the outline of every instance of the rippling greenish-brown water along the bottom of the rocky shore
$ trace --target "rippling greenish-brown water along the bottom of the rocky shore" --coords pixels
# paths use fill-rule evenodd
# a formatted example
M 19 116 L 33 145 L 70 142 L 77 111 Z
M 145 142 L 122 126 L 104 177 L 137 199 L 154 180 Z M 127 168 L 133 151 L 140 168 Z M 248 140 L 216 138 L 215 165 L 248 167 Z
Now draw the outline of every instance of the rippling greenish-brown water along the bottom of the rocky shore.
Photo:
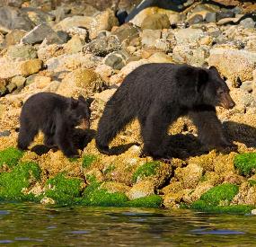
M 256 246 L 256 216 L 3 203 L 0 246 Z

